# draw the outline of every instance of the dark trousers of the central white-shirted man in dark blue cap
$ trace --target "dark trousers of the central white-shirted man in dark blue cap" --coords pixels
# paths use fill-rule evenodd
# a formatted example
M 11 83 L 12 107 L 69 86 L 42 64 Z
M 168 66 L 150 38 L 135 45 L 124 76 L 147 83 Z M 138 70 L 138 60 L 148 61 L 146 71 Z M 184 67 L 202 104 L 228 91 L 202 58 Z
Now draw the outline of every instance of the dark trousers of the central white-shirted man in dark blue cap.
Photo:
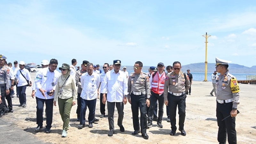
M 117 119 L 117 125 L 120 127 L 123 125 L 123 119 L 124 119 L 124 103 L 123 102 L 109 102 L 108 104 L 108 124 L 109 124 L 109 130 L 114 131 L 114 112 L 115 112 L 115 105 L 118 113 L 118 119 Z

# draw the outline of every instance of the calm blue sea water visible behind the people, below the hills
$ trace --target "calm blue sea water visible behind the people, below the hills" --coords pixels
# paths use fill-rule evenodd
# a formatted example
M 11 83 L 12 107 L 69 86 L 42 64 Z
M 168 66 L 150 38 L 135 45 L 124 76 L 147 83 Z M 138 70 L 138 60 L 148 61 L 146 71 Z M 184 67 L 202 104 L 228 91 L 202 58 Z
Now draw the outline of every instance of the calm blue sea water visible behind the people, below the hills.
M 129 75 L 130 73 L 134 72 L 133 70 L 127 70 Z M 148 71 L 143 71 L 147 73 Z M 204 72 L 191 72 L 193 76 L 193 81 L 203 81 L 204 80 Z M 233 76 L 236 77 L 237 80 L 246 80 L 246 76 L 255 76 L 256 74 L 238 74 L 238 73 L 231 73 Z M 207 81 L 211 82 L 212 73 L 207 73 Z

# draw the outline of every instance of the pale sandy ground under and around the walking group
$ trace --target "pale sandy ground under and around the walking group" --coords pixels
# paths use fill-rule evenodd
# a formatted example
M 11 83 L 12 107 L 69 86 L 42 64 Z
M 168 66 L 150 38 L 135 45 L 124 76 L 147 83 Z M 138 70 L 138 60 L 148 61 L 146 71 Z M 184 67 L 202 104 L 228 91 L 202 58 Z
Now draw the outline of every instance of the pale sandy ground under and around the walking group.
M 30 73 L 32 79 L 35 73 Z M 240 114 L 236 117 L 236 131 L 237 143 L 256 143 L 256 85 L 239 84 L 240 86 L 240 105 L 238 109 Z M 16 87 L 15 87 L 16 88 Z M 79 122 L 76 122 L 76 107 L 75 105 L 70 114 L 70 129 L 68 130 L 68 137 L 62 138 L 62 120 L 59 114 L 59 108 L 53 108 L 53 122 L 52 132 L 47 134 L 44 128 L 41 132 L 35 132 L 36 124 L 36 99 L 31 97 L 32 89 L 28 87 L 27 93 L 27 107 L 18 107 L 19 99 L 14 97 L 13 113 L 1 117 L 3 122 L 11 123 L 11 127 L 16 127 L 22 132 L 38 138 L 47 143 L 172 143 L 172 144 L 198 144 L 198 143 L 218 143 L 217 141 L 217 119 L 216 119 L 216 97 L 210 96 L 212 90 L 211 82 L 193 82 L 192 93 L 186 99 L 186 120 L 184 129 L 187 132 L 186 136 L 180 135 L 177 131 L 175 136 L 170 136 L 171 124 L 166 122 L 166 107 L 164 106 L 163 128 L 158 128 L 156 122 L 153 121 L 153 127 L 147 129 L 149 135 L 148 140 L 144 140 L 141 134 L 132 135 L 132 111 L 131 105 L 127 103 L 124 106 L 124 120 L 123 125 L 125 132 L 120 132 L 117 126 L 117 110 L 115 111 L 115 131 L 112 137 L 108 137 L 108 118 L 100 118 L 100 100 L 97 99 L 96 115 L 100 121 L 93 124 L 93 128 L 84 127 L 78 129 Z M 16 91 L 15 91 L 16 93 Z M 107 108 L 107 106 L 106 106 Z M 88 109 L 87 109 L 88 110 Z M 106 110 L 107 115 L 107 110 Z M 88 111 L 86 113 L 86 119 Z M 177 127 L 178 127 L 178 111 L 177 111 Z M 88 121 L 86 120 L 86 126 Z M 8 143 L 6 138 L 6 143 Z M 26 143 L 25 141 L 23 143 Z M 35 141 L 35 143 L 38 143 Z

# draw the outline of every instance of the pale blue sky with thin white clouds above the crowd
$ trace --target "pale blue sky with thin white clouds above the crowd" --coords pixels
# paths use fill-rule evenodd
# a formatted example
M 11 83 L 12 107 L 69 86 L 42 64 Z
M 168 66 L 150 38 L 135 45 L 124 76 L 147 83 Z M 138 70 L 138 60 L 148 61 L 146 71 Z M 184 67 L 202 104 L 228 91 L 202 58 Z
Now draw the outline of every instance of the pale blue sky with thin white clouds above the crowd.
M 256 65 L 256 1 L 0 1 L 0 48 L 8 59 L 75 58 L 103 65 L 166 66 L 215 57 Z

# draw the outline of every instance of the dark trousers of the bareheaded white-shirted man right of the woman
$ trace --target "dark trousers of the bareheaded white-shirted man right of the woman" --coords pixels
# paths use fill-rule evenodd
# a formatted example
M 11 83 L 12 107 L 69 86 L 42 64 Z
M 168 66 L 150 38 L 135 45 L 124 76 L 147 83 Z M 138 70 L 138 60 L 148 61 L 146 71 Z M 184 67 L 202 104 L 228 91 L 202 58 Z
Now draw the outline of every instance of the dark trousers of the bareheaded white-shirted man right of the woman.
M 96 101 L 97 99 L 84 100 L 81 98 L 80 124 L 85 124 L 85 113 L 86 113 L 87 107 L 89 109 L 89 115 L 88 115 L 89 124 L 93 123 L 95 118 Z

